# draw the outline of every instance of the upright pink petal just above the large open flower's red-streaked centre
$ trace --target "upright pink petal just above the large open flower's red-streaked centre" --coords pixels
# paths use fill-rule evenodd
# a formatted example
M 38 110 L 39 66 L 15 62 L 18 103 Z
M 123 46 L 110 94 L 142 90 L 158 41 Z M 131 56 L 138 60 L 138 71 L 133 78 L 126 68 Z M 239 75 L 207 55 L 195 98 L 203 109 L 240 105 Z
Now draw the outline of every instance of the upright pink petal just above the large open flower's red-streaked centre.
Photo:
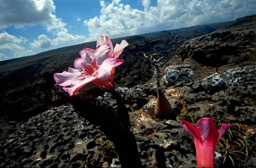
M 98 46 L 95 53 L 92 55 L 93 63 L 96 63 L 96 65 L 101 65 L 102 62 L 108 58 L 109 52 L 109 44 L 103 44 L 102 46 Z

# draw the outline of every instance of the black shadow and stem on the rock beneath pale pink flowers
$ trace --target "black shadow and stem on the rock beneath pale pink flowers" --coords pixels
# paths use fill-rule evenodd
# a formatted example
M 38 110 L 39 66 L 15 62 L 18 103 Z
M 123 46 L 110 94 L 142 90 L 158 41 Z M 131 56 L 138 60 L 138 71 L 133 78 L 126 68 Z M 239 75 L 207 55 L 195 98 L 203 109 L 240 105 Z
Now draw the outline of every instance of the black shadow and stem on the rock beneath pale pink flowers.
M 71 103 L 81 117 L 100 126 L 108 139 L 113 141 L 122 167 L 141 167 L 128 110 L 118 93 L 113 96 L 116 100 L 109 98 L 102 102 L 81 93 L 73 96 Z

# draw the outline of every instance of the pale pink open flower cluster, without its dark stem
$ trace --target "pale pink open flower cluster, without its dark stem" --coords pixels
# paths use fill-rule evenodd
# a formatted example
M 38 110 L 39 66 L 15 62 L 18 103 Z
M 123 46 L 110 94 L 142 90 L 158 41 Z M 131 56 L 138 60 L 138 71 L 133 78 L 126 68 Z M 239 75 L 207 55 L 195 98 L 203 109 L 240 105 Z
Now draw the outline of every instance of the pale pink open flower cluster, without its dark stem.
M 124 62 L 117 58 L 126 46 L 128 43 L 122 40 L 113 49 L 107 36 L 98 36 L 96 50 L 83 48 L 79 52 L 81 58 L 75 59 L 75 68 L 69 67 L 68 71 L 54 74 L 55 85 L 63 86 L 70 96 L 89 82 L 104 90 L 113 89 L 115 67 Z

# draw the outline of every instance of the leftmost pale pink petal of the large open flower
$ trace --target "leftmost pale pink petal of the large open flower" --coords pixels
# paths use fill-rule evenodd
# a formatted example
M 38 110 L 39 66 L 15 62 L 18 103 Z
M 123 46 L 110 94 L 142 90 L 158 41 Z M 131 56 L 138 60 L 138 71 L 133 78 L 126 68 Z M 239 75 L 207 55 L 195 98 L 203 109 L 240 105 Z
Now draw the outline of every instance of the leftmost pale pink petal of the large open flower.
M 55 73 L 53 75 L 54 80 L 56 81 L 55 85 L 60 86 L 69 86 L 72 83 L 78 83 L 82 80 L 84 80 L 84 77 L 81 76 L 81 71 L 79 69 L 74 69 L 69 67 L 68 72 L 64 71 L 62 73 Z

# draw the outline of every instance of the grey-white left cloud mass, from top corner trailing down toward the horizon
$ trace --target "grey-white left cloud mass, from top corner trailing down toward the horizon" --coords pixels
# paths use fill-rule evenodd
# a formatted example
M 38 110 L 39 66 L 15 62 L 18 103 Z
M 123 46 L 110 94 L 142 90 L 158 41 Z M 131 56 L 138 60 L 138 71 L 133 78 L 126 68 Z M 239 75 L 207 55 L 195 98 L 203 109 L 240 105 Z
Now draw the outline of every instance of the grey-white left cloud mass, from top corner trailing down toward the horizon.
M 40 34 L 31 42 L 32 48 L 49 48 L 64 42 L 80 43 L 85 41 L 82 35 L 69 34 L 65 28 L 66 23 L 57 18 L 53 0 L 1 0 L 0 1 L 0 29 L 9 26 L 16 28 L 26 25 L 43 25 L 47 32 L 55 38 Z M 77 21 L 80 18 L 77 17 Z

